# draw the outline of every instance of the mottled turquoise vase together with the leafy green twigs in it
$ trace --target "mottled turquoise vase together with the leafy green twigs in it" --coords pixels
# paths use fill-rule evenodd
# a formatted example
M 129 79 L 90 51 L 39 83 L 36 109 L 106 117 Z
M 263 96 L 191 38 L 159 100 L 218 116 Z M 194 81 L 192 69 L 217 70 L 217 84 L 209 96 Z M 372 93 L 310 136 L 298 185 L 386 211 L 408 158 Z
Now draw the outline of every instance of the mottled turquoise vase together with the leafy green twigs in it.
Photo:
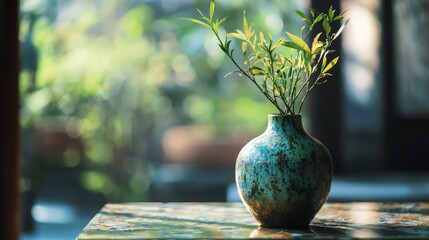
M 256 32 L 244 14 L 243 30 L 223 36 L 220 26 L 226 18 L 215 18 L 215 8 L 212 0 L 208 16 L 198 10 L 200 19 L 185 20 L 212 30 L 237 69 L 231 73 L 251 81 L 278 110 L 268 116 L 266 131 L 238 155 L 239 195 L 263 227 L 307 227 L 330 191 L 332 159 L 326 147 L 305 132 L 301 111 L 308 94 L 332 76 L 329 71 L 339 57 L 330 48 L 348 20 L 334 32 L 332 23 L 342 20 L 343 13 L 336 14 L 332 7 L 327 13 L 311 9 L 310 16 L 295 10 L 305 23 L 300 36 L 286 32 L 274 40 L 269 32 Z M 316 25 L 324 32 L 308 45 Z M 242 57 L 234 55 L 230 38 L 241 42 Z

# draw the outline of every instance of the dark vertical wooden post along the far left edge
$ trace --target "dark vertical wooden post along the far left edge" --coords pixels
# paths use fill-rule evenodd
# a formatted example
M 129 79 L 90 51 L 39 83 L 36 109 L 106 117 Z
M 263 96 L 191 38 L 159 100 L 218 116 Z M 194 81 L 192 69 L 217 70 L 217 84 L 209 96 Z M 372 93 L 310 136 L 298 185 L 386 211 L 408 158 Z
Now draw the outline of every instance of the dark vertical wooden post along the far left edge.
M 0 239 L 19 238 L 19 1 L 0 1 Z

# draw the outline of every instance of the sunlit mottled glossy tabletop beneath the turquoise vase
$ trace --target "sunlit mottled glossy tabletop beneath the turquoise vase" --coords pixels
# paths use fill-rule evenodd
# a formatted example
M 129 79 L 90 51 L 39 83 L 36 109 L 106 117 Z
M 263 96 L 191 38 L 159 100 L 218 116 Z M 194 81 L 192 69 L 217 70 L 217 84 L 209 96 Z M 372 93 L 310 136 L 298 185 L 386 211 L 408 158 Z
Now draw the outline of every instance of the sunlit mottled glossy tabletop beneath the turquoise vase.
M 242 203 L 106 204 L 78 239 L 429 239 L 428 203 L 326 203 L 310 227 L 258 227 Z

